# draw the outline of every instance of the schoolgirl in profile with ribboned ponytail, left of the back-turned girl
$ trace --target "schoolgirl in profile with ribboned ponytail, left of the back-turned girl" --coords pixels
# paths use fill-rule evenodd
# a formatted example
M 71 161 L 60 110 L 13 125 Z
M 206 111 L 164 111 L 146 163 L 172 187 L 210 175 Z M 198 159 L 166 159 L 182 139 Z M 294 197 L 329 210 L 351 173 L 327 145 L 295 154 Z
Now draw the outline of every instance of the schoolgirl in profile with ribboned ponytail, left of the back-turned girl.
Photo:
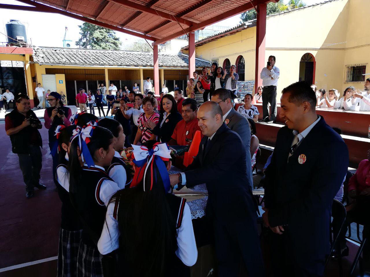
M 112 276 L 114 255 L 102 256 L 97 248 L 105 221 L 106 206 L 118 185 L 104 167 L 114 157 L 114 137 L 108 129 L 88 124 L 71 139 L 68 161 L 71 203 L 82 226 L 77 276 Z

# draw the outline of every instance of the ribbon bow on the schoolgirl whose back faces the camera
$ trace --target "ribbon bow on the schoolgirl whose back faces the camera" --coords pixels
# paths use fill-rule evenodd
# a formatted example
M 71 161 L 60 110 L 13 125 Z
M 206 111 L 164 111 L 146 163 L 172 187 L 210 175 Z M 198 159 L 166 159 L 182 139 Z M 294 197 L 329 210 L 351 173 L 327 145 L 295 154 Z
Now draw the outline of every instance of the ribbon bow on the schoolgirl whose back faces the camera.
M 132 145 L 132 144 L 131 144 Z M 135 171 L 134 178 L 131 182 L 130 188 L 136 187 L 139 182 L 144 179 L 144 191 L 145 191 L 145 176 L 147 171 L 151 171 L 151 184 L 150 189 L 153 188 L 153 182 L 157 181 L 156 171 L 153 171 L 153 164 L 157 165 L 159 174 L 163 181 L 164 189 L 168 192 L 171 189 L 171 184 L 169 182 L 169 175 L 167 172 L 166 165 L 164 161 L 169 161 L 171 158 L 171 150 L 168 149 L 166 143 L 155 143 L 153 148 L 148 149 L 145 146 L 132 145 L 134 150 L 132 154 L 134 155 L 134 164 L 137 165 L 137 170 Z M 149 160 L 148 160 L 149 159 Z

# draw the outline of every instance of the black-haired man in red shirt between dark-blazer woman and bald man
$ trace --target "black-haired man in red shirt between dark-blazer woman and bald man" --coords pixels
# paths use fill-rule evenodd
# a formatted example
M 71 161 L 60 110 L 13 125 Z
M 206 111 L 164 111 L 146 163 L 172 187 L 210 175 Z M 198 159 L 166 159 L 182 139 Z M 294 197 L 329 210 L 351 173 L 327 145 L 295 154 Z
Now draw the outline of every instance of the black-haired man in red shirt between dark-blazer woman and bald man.
M 196 119 L 196 100 L 186 98 L 182 102 L 181 110 L 183 119 L 176 124 L 168 145 L 190 145 L 195 131 L 201 130 L 198 126 L 198 119 Z

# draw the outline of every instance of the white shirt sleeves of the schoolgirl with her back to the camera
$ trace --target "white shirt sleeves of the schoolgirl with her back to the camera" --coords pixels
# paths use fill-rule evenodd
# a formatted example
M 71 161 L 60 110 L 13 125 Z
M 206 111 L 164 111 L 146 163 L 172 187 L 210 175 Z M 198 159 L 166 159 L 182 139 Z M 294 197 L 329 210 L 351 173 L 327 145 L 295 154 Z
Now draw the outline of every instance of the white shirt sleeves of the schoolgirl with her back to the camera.
M 98 250 L 103 255 L 111 253 L 119 247 L 120 230 L 118 229 L 118 221 L 113 216 L 114 206 L 115 202 L 111 202 L 108 205 L 103 230 L 98 241 Z M 176 256 L 186 266 L 193 266 L 198 258 L 198 250 L 195 243 L 190 208 L 187 203 L 185 203 L 184 215 L 182 217 L 181 226 L 177 230 L 176 240 L 178 246 Z M 124 247 L 124 245 L 121 247 Z

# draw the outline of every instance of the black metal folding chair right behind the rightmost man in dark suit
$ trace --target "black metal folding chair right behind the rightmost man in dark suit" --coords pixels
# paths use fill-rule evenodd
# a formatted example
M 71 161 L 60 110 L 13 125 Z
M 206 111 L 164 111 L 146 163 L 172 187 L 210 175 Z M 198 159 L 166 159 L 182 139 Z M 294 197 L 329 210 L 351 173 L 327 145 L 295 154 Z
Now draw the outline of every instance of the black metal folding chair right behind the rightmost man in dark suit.
M 332 239 L 332 222 L 330 221 L 329 241 L 330 241 L 331 247 L 330 247 L 329 255 L 327 256 L 327 258 L 325 260 L 325 267 L 326 267 L 330 257 L 332 256 L 334 247 L 335 247 L 335 245 L 337 243 L 337 240 L 339 238 L 339 234 L 340 234 L 341 230 L 343 229 L 344 223 L 346 221 L 346 215 L 347 215 L 347 212 L 346 212 L 346 208 L 344 207 L 344 205 L 340 201 L 338 201 L 336 199 L 333 199 L 332 216 L 333 216 L 333 220 L 334 220 L 334 217 L 335 217 L 335 220 L 337 220 L 337 222 L 339 223 L 340 228 L 339 228 L 339 230 L 337 230 L 337 233 L 334 234 L 335 237 Z M 339 247 L 337 247 L 336 251 L 340 252 Z M 342 259 L 338 259 L 338 264 L 339 264 L 339 274 L 340 274 L 340 276 L 343 276 Z

